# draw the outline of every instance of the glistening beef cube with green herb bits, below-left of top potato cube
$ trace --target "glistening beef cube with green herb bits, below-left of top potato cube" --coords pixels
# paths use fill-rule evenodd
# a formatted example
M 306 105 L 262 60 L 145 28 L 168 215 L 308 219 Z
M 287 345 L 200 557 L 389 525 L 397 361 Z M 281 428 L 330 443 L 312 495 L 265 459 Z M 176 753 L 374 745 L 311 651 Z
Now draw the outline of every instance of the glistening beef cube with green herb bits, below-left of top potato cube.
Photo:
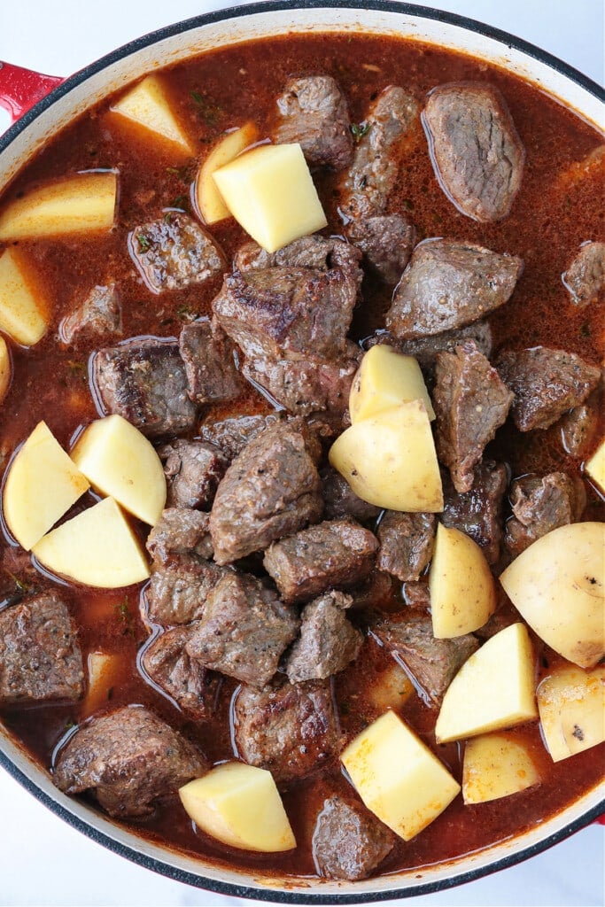
M 225 266 L 210 233 L 187 214 L 142 224 L 129 242 L 142 278 L 156 293 L 203 283 Z

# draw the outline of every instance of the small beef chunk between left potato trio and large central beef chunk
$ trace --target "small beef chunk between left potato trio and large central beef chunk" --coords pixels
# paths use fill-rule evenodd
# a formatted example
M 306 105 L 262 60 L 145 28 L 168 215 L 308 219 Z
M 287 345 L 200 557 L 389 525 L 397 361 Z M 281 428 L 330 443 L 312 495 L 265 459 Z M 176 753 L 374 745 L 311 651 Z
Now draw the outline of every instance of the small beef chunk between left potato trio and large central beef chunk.
M 173 441 L 158 453 L 164 461 L 169 507 L 207 508 L 214 500 L 229 460 L 206 441 Z

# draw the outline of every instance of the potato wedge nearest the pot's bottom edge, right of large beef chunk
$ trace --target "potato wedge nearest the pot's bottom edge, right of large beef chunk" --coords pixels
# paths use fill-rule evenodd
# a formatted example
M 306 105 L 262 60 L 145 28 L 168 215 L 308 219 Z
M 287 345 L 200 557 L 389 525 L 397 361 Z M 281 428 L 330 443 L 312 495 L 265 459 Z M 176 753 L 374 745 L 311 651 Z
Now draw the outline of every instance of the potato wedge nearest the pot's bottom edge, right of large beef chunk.
M 297 843 L 273 775 L 243 762 L 227 762 L 179 790 L 182 805 L 207 834 L 259 853 L 292 850 Z

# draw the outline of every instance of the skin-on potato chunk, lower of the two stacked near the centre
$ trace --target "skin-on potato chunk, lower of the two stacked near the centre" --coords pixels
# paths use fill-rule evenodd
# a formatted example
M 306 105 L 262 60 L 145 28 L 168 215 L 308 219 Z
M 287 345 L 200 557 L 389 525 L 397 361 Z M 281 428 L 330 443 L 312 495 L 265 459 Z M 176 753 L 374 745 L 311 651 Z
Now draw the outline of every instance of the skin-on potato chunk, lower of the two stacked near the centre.
M 357 497 L 376 507 L 432 513 L 444 509 L 433 433 L 422 400 L 351 425 L 332 444 L 329 461 Z

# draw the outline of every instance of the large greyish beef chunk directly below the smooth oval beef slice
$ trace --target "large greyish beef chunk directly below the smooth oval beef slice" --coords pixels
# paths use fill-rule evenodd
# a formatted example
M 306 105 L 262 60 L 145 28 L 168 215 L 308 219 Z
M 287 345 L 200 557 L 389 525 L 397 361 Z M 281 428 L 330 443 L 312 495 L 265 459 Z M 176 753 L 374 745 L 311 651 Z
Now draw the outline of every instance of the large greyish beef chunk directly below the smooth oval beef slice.
M 483 318 L 511 297 L 522 259 L 472 243 L 428 239 L 416 246 L 386 313 L 386 327 L 414 339 Z

